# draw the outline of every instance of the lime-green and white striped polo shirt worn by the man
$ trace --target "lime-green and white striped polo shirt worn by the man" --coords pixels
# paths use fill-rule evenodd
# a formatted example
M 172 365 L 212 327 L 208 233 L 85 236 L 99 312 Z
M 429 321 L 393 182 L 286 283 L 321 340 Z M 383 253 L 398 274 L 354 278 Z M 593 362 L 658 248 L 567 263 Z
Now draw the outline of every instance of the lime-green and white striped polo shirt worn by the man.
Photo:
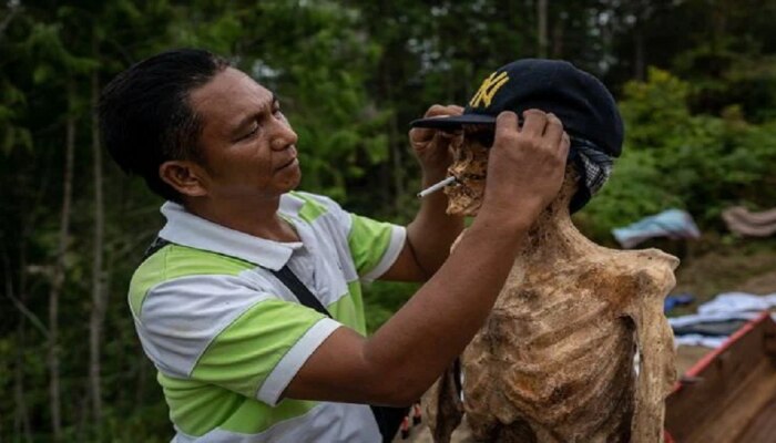
M 166 203 L 172 241 L 137 268 L 129 301 L 159 370 L 174 442 L 377 442 L 369 406 L 282 400 L 307 358 L 345 324 L 366 333 L 359 280 L 382 275 L 405 229 L 290 193 L 279 214 L 302 241 L 225 228 Z M 299 305 L 268 269 L 284 265 L 334 319 Z

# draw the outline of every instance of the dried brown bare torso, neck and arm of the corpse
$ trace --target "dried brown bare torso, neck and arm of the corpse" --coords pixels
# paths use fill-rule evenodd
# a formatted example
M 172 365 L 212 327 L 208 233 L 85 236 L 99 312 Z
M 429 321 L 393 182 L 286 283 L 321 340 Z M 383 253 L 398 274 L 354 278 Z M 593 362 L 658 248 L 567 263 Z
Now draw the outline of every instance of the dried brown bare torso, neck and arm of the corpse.
M 662 441 L 675 380 L 663 299 L 678 260 L 656 249 L 606 249 L 582 236 L 568 213 L 575 183 L 569 169 L 462 356 L 463 405 L 476 440 Z M 453 200 L 448 210 L 472 206 Z M 446 402 L 455 399 L 438 393 L 438 408 L 449 411 Z M 445 420 L 460 416 L 440 414 L 437 430 L 450 429 Z

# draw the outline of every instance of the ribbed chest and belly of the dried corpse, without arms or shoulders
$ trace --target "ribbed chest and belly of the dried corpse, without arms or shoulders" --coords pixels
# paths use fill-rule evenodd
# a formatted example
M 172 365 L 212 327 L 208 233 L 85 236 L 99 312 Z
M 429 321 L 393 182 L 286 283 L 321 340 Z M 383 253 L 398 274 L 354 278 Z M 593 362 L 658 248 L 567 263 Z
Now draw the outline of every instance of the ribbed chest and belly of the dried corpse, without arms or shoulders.
M 476 436 L 629 441 L 634 327 L 615 309 L 589 290 L 510 289 L 508 282 L 464 353 L 466 410 Z

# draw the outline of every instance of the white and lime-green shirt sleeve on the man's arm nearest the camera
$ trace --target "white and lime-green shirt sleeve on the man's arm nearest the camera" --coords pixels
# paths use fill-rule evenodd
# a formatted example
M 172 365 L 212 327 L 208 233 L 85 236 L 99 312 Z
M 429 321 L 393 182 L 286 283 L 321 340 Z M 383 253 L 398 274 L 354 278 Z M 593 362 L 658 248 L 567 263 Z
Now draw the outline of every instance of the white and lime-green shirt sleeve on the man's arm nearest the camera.
M 136 318 L 143 348 L 161 372 L 270 405 L 339 326 L 235 276 L 163 282 L 151 289 Z

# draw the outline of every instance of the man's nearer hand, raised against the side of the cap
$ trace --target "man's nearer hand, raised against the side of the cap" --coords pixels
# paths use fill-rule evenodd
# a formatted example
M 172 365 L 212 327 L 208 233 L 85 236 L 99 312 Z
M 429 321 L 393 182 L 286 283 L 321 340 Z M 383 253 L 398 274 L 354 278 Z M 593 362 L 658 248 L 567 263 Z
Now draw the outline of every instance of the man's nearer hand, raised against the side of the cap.
M 499 114 L 478 218 L 492 214 L 501 223 L 530 227 L 561 188 L 569 144 L 554 114 L 528 110 L 522 127 L 515 113 Z

